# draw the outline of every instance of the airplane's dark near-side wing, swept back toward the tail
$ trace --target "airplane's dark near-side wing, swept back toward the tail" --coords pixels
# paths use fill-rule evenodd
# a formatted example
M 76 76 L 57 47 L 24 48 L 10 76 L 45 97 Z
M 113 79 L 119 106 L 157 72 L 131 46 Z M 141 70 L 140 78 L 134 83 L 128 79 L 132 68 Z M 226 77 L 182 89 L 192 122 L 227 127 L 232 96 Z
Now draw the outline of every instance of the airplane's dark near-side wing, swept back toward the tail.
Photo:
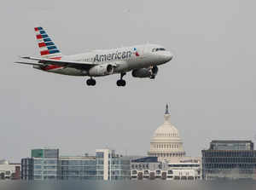
M 21 58 L 25 60 L 38 60 L 38 63 L 30 63 L 30 62 L 23 62 L 23 61 L 17 61 L 16 63 L 27 64 L 27 65 L 38 65 L 38 66 L 47 66 L 47 65 L 67 66 L 67 67 L 74 67 L 74 68 L 81 68 L 81 69 L 90 69 L 91 67 L 97 65 L 91 62 L 83 62 L 83 61 L 75 61 L 75 60 L 53 60 L 53 59 L 45 59 L 45 58 L 37 58 L 37 57 L 29 57 L 29 56 L 24 56 Z

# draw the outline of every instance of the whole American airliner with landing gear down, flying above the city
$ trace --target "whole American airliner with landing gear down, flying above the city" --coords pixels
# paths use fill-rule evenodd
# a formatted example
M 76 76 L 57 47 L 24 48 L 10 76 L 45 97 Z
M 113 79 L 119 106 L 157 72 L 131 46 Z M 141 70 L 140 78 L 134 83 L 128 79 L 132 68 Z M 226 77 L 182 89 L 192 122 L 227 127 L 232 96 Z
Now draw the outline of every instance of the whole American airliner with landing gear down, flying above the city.
M 96 77 L 120 74 L 118 86 L 125 86 L 126 72 L 134 78 L 154 79 L 158 66 L 172 60 L 173 54 L 156 44 L 142 44 L 118 49 L 92 50 L 79 55 L 62 55 L 43 27 L 34 28 L 41 57 L 21 56 L 15 63 L 70 76 L 88 76 L 86 84 L 95 86 Z

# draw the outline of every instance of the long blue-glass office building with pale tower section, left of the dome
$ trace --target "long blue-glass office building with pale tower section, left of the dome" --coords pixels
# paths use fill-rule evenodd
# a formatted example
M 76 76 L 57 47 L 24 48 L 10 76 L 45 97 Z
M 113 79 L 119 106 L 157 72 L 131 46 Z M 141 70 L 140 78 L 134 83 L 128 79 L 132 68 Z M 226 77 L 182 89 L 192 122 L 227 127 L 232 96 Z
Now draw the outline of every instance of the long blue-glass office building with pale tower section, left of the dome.
M 96 152 L 93 157 L 59 157 L 59 150 L 45 150 L 32 150 L 32 158 L 22 158 L 22 180 L 106 180 L 106 176 L 107 180 L 124 180 L 131 176 L 130 159 L 113 151 Z

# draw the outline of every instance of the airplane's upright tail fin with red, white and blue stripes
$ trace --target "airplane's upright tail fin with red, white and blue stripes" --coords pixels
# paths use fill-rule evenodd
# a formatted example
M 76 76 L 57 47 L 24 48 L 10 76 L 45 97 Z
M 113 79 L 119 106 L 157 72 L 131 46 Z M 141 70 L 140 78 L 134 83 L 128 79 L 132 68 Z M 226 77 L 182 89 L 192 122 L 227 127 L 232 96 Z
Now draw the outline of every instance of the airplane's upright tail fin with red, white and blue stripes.
M 40 55 L 49 59 L 61 59 L 61 51 L 48 36 L 43 27 L 35 27 Z

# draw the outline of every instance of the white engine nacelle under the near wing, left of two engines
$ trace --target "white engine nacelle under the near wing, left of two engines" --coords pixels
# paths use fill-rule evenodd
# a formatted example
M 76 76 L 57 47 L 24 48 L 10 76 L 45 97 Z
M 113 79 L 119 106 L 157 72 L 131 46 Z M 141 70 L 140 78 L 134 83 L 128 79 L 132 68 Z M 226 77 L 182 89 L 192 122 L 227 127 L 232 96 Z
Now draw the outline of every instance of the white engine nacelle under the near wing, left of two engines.
M 91 77 L 100 77 L 113 74 L 113 66 L 111 64 L 102 64 L 98 66 L 93 66 L 89 70 L 89 75 Z

